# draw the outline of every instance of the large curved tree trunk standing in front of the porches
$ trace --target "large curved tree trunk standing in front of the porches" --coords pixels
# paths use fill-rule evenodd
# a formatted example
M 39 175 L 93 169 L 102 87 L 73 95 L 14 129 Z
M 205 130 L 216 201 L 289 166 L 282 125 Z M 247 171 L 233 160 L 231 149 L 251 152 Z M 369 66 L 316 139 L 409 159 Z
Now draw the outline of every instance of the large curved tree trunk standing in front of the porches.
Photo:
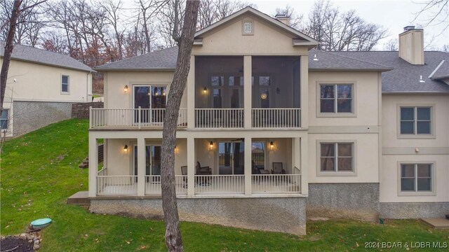
M 170 85 L 165 120 L 163 122 L 161 188 L 168 251 L 184 251 L 175 191 L 175 141 L 177 117 L 190 69 L 190 54 L 194 42 L 198 8 L 199 1 L 187 1 L 175 75 Z

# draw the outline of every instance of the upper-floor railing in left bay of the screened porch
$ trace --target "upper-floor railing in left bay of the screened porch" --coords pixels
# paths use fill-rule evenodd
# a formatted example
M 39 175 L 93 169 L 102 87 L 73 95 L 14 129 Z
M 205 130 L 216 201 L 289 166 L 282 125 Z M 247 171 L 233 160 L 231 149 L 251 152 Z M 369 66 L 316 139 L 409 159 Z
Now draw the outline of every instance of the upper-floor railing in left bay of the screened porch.
M 243 128 L 243 109 L 195 109 L 197 128 Z

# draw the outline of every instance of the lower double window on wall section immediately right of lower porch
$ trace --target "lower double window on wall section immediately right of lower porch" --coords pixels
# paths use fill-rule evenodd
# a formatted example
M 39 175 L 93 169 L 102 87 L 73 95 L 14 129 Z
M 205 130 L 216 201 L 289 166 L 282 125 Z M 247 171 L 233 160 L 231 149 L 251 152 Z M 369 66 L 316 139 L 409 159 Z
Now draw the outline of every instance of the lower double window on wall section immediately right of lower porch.
M 319 172 L 354 173 L 353 142 L 319 143 Z

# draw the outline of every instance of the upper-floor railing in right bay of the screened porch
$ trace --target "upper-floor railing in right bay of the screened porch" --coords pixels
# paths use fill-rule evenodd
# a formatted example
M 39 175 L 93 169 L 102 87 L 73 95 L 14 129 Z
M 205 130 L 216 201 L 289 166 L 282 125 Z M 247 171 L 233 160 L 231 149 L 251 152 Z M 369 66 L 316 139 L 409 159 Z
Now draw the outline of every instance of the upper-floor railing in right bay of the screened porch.
M 301 109 L 252 109 L 255 128 L 299 128 Z

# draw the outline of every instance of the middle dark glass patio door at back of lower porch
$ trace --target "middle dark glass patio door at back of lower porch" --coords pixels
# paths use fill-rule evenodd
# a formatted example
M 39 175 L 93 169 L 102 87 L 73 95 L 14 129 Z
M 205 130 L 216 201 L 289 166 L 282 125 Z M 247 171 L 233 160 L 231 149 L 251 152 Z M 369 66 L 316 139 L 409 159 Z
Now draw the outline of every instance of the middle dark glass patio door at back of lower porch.
M 218 174 L 244 174 L 245 143 L 243 141 L 218 143 Z

